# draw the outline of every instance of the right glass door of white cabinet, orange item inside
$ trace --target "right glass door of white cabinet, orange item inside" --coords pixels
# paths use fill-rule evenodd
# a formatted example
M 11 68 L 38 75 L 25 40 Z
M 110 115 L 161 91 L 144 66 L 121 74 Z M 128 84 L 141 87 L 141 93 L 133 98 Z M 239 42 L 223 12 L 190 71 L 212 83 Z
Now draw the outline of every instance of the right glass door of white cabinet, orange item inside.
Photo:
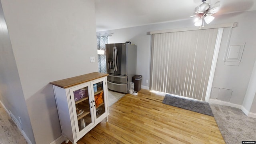
M 105 87 L 105 80 L 98 80 L 93 84 L 93 92 L 94 92 L 94 103 L 96 109 L 96 118 L 100 116 L 106 116 L 106 92 Z

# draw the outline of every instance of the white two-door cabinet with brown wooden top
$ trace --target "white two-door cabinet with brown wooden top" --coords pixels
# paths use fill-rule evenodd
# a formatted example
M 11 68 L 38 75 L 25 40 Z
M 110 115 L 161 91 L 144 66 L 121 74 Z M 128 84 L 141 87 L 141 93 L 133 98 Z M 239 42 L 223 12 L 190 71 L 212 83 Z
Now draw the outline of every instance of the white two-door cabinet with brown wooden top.
M 62 135 L 74 144 L 104 118 L 108 121 L 106 76 L 108 74 L 93 72 L 50 82 L 54 89 Z

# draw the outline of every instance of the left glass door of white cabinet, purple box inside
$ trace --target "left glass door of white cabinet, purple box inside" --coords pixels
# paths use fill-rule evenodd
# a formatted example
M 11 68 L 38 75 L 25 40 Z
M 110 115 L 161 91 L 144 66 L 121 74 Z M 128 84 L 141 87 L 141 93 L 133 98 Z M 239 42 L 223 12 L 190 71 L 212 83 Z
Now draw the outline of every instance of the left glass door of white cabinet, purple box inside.
M 90 97 L 90 92 L 88 91 L 88 86 L 79 86 L 76 88 L 70 89 L 70 95 L 74 98 L 75 110 L 73 110 L 76 129 L 78 128 L 79 132 L 86 128 L 87 126 L 92 125 L 92 112 L 90 108 L 90 103 L 92 106 L 92 100 Z M 73 99 L 72 99 L 73 100 Z M 75 112 L 74 112 L 75 111 Z

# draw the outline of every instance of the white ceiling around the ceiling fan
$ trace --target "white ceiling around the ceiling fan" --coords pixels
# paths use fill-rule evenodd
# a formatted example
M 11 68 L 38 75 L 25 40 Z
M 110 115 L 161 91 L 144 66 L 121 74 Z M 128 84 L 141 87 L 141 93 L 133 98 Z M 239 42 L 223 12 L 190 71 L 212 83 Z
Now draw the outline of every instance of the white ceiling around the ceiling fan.
M 215 15 L 256 10 L 256 0 L 220 1 Z M 190 15 L 202 0 L 95 0 L 96 31 L 192 19 Z

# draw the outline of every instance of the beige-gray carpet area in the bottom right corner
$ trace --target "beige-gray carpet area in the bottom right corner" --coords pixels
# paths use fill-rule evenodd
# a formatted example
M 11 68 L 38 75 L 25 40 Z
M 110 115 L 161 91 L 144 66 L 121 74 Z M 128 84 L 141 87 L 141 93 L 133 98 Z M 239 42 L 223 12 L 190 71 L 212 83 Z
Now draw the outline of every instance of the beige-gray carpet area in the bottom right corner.
M 256 140 L 256 118 L 250 118 L 238 108 L 210 104 L 220 133 L 226 144 L 241 144 L 241 140 Z

